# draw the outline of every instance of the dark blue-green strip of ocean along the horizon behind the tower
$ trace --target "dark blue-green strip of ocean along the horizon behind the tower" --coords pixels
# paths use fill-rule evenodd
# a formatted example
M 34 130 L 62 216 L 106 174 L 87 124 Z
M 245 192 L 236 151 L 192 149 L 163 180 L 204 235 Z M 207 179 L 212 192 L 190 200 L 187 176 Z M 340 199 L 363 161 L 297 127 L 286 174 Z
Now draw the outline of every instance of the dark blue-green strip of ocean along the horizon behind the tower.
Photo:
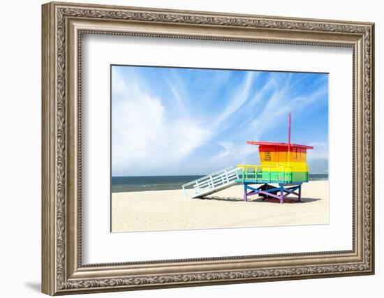
M 200 176 L 131 176 L 112 177 L 112 193 L 123 193 L 128 191 L 165 191 L 170 189 L 181 189 L 186 184 Z M 309 174 L 309 181 L 327 180 L 328 174 Z

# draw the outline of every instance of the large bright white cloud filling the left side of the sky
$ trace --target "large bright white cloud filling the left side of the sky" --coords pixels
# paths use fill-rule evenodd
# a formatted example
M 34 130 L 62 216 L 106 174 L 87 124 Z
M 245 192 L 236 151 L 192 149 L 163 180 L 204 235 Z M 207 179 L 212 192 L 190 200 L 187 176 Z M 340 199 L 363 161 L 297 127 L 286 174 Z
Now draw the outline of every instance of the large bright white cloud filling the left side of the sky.
M 117 73 L 115 79 L 112 97 L 124 91 L 124 98 L 112 108 L 112 174 L 172 167 L 211 135 L 196 119 L 169 117 L 161 98 L 147 94 L 139 84 L 121 84 Z

